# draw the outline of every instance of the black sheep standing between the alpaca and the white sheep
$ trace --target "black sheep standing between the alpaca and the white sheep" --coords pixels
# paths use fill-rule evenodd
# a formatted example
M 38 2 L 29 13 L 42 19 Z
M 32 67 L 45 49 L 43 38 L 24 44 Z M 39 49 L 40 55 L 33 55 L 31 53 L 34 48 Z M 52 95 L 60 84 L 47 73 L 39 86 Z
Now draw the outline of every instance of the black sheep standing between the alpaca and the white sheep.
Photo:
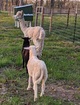
M 23 68 L 24 68 L 24 64 L 25 64 L 25 67 L 26 67 L 26 73 L 28 73 L 28 70 L 27 70 L 27 62 L 29 60 L 29 50 L 27 49 L 24 49 L 25 47 L 29 47 L 30 46 L 30 38 L 28 37 L 23 37 L 22 38 L 24 41 L 23 41 L 23 46 L 22 46 L 22 59 L 23 59 Z

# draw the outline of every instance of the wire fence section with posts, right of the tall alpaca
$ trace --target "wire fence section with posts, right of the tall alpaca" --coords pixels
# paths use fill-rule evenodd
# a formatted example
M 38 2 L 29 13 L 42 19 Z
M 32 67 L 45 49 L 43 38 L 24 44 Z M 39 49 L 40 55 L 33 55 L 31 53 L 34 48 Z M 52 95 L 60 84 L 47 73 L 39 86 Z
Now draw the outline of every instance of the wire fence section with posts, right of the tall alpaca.
M 65 11 L 65 13 L 58 13 L 54 10 L 52 21 L 50 14 L 46 15 L 43 27 L 46 30 L 51 29 L 51 32 L 67 40 L 80 41 L 80 10 L 78 9 L 77 13 L 75 13 L 75 10 L 71 10 L 70 13 L 68 13 L 68 9 Z

